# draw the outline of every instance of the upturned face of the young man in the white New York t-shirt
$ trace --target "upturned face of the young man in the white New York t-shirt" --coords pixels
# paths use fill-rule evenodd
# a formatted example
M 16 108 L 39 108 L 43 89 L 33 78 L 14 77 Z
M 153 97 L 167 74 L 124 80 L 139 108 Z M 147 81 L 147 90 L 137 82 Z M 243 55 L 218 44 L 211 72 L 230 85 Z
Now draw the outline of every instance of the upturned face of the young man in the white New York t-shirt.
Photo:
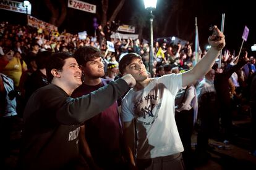
M 134 59 L 126 66 L 124 74 L 130 74 L 136 81 L 144 81 L 148 78 L 148 73 L 141 59 Z

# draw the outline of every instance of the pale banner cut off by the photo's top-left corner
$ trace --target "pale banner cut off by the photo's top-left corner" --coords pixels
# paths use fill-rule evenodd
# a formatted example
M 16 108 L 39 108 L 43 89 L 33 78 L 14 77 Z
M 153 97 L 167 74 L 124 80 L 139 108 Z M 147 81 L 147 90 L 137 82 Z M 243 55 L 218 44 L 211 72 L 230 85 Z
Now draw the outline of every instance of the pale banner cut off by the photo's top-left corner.
M 31 14 L 31 4 L 26 8 L 23 2 L 0 0 L 0 9 L 11 10 L 23 14 Z

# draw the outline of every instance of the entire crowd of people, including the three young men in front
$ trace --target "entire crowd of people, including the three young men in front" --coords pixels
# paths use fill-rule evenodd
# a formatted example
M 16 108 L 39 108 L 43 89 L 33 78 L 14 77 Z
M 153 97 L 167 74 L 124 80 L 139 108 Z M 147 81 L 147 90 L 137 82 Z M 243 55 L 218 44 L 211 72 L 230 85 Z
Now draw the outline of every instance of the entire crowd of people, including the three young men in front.
M 0 24 L 1 169 L 18 121 L 17 169 L 194 169 L 210 158 L 209 139 L 233 142 L 242 105 L 256 156 L 254 56 L 225 49 L 219 62 L 225 39 L 215 26 L 198 59 L 190 42 L 156 41 L 149 73 L 149 45 L 113 39 L 110 28 L 80 39 Z

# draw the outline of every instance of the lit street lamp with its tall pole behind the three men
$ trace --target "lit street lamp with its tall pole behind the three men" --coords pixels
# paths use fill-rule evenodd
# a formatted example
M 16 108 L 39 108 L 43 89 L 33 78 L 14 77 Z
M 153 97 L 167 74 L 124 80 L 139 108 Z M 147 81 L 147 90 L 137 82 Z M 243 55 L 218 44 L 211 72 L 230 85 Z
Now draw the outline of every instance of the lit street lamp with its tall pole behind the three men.
M 145 9 L 150 10 L 150 60 L 149 60 L 149 71 L 151 74 L 151 77 L 153 77 L 153 18 L 154 15 L 152 13 L 152 10 L 156 8 L 156 2 L 157 0 L 143 0 Z

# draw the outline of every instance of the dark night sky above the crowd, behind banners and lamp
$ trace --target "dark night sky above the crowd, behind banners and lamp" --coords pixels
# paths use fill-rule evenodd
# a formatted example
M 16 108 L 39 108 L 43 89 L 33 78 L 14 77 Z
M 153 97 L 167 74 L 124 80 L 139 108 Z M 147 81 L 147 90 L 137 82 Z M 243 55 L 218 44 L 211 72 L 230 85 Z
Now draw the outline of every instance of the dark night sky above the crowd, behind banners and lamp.
M 64 23 L 59 26 L 62 31 L 66 28 L 71 33 L 87 30 L 93 33 L 92 18 L 97 17 L 100 22 L 101 1 L 82 0 L 95 4 L 98 15 L 67 8 L 67 17 Z M 32 0 L 32 15 L 45 22 L 49 21 L 50 12 L 44 2 Z M 114 10 L 117 0 L 109 0 L 109 14 Z M 256 11 L 253 1 L 244 0 L 240 2 L 225 0 L 158 0 L 156 10 L 153 11 L 154 38 L 177 36 L 181 39 L 194 43 L 195 39 L 195 17 L 197 17 L 199 44 L 202 49 L 207 45 L 207 38 L 211 34 L 208 31 L 210 25 L 217 25 L 221 28 L 221 14 L 225 13 L 224 34 L 226 36 L 226 48 L 239 52 L 242 44 L 242 33 L 244 26 L 249 28 L 249 37 L 244 42 L 244 47 L 250 52 L 250 46 L 256 44 Z M 9 20 L 15 23 L 22 22 L 23 14 L 0 10 L 1 20 Z M 132 16 L 143 15 L 146 10 L 143 0 L 126 0 L 122 10 L 116 17 L 124 24 L 132 24 Z M 14 14 L 15 13 L 15 14 Z M 108 15 L 109 15 L 108 14 Z M 5 16 L 5 17 L 2 17 Z M 164 26 L 167 25 L 164 31 Z M 136 25 L 135 25 L 136 26 Z M 143 29 L 143 38 L 148 39 L 149 23 Z

